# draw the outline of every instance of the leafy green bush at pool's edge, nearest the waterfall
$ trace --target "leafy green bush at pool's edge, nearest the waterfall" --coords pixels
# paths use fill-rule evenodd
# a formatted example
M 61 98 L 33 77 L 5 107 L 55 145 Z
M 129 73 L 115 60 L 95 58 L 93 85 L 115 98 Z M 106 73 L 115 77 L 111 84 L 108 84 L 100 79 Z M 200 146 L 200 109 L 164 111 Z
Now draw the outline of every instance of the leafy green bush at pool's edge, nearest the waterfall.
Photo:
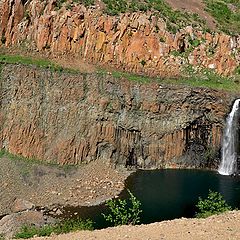
M 209 194 L 206 199 L 199 197 L 199 201 L 196 206 L 198 208 L 196 213 L 197 218 L 206 218 L 214 214 L 232 210 L 220 193 L 213 192 L 211 190 L 209 190 Z

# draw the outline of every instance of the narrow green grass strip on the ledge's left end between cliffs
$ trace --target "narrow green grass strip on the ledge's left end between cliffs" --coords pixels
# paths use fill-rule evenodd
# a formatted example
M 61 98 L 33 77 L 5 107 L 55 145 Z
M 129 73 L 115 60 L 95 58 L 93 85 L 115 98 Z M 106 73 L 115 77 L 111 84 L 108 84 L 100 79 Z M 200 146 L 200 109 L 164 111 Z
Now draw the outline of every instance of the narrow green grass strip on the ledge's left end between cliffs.
M 21 55 L 7 55 L 0 54 L 0 64 L 23 64 L 23 65 L 33 65 L 36 67 L 50 69 L 56 72 L 69 72 L 69 73 L 79 73 L 78 70 L 63 68 L 47 59 L 35 59 L 30 57 L 25 57 Z

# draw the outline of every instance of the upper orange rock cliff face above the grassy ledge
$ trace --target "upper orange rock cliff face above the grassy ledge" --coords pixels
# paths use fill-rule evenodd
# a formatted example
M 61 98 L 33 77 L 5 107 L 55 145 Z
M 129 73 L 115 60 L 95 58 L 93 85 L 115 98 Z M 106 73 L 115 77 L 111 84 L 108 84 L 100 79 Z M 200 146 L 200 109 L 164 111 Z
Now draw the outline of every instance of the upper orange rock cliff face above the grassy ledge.
M 176 76 L 188 65 L 231 74 L 240 62 L 240 37 L 187 27 L 176 34 L 152 13 L 103 15 L 55 0 L 0 0 L 0 45 L 51 54 L 71 53 L 92 63 L 149 75 Z

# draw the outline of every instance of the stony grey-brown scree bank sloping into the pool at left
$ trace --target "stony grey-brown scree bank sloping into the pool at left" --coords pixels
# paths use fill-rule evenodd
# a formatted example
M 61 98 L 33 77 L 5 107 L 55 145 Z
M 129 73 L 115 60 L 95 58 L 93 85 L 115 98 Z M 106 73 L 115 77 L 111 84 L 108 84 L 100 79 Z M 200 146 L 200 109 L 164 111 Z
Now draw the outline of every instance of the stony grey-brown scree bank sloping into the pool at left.
M 16 199 L 36 208 L 96 206 L 118 196 L 133 171 L 113 169 L 108 162 L 95 161 L 71 169 L 0 158 L 0 216 L 12 213 Z

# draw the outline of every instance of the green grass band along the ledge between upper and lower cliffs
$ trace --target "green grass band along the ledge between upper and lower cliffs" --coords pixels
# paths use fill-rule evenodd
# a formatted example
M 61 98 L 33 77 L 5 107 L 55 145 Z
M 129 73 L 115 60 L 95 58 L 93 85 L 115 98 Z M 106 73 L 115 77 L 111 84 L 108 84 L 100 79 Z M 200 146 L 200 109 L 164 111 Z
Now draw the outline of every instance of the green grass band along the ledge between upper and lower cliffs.
M 49 69 L 51 71 L 56 71 L 59 73 L 79 73 L 75 69 L 63 68 L 60 65 L 53 63 L 52 61 L 46 59 L 34 59 L 29 57 L 24 57 L 20 55 L 7 55 L 0 54 L 0 65 L 1 64 L 23 64 L 23 65 L 33 65 L 44 69 Z M 192 66 L 188 66 L 182 76 L 176 78 L 152 78 L 144 75 L 137 75 L 128 72 L 121 71 L 106 71 L 104 69 L 99 69 L 97 72 L 99 75 L 112 75 L 119 79 L 128 79 L 129 81 L 134 81 L 138 83 L 151 83 L 157 82 L 159 84 L 174 84 L 174 85 L 185 85 L 191 87 L 205 87 L 217 90 L 226 90 L 231 92 L 240 91 L 240 72 L 239 68 L 236 70 L 236 74 L 232 77 L 220 76 L 216 74 L 213 70 L 203 69 L 201 71 L 195 71 Z

